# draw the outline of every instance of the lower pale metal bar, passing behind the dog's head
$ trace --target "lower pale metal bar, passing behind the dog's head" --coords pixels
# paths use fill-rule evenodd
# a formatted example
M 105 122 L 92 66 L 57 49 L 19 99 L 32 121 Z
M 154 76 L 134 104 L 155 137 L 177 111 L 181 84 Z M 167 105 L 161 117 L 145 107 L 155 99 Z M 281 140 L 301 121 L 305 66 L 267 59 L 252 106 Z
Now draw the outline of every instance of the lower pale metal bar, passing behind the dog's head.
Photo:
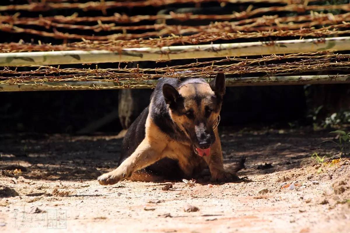
M 205 79 L 207 82 L 210 79 Z M 0 84 L 0 92 L 36 91 L 36 90 L 109 90 L 123 88 L 154 88 L 157 80 L 113 81 L 62 81 L 62 82 L 25 82 L 14 85 Z M 350 83 L 350 74 L 346 75 L 305 75 L 226 78 L 227 87 L 239 86 L 277 86 Z

